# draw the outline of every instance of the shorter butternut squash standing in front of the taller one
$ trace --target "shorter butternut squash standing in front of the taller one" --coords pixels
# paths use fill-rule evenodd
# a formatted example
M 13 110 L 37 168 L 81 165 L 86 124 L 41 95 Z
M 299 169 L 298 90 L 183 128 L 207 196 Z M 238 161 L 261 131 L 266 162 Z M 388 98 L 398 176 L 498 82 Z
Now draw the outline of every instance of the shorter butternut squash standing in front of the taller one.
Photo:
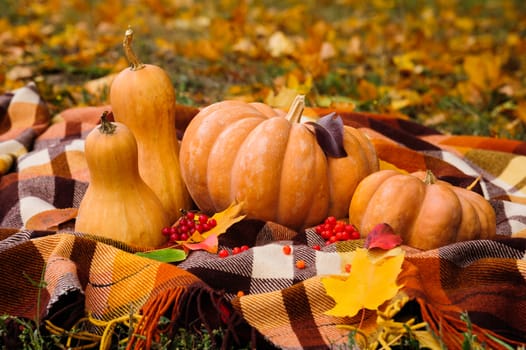
M 75 230 L 145 247 L 166 242 L 161 232 L 170 218 L 159 198 L 139 175 L 137 143 L 107 112 L 86 137 L 90 182 L 81 200 Z

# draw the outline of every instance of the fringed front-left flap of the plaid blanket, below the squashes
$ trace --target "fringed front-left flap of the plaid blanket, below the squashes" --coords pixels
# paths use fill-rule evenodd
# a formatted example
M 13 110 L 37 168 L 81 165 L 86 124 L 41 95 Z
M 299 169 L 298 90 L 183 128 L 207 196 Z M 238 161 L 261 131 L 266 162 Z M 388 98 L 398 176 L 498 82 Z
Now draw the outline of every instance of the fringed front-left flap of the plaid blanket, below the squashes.
M 7 236 L 0 241 L 2 314 L 69 329 L 86 314 L 111 321 L 143 310 L 128 345 L 139 349 L 159 340 L 161 316 L 172 321 L 163 329 L 168 334 L 196 321 L 228 330 L 234 319 L 221 293 L 181 268 L 133 254 L 133 247 L 83 234 L 1 231 Z

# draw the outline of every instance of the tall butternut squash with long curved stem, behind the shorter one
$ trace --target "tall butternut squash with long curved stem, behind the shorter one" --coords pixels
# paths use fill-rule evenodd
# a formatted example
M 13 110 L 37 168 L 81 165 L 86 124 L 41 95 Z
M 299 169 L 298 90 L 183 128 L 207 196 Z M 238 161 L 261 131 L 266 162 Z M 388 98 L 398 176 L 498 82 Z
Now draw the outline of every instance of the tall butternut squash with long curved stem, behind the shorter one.
M 131 66 L 110 87 L 115 120 L 128 126 L 139 150 L 139 172 L 175 221 L 191 200 L 179 168 L 179 141 L 175 128 L 176 97 L 170 77 L 162 68 L 139 61 L 128 28 L 123 46 Z

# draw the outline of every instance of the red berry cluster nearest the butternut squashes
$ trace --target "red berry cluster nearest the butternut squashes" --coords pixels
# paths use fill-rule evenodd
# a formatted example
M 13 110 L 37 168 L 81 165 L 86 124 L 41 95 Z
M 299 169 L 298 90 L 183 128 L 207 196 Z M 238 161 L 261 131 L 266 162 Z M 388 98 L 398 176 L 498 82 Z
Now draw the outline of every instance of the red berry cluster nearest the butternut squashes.
M 170 227 L 165 227 L 162 234 L 169 237 L 169 243 L 186 241 L 195 231 L 205 233 L 216 227 L 216 219 L 206 214 L 182 210 L 183 215 Z

